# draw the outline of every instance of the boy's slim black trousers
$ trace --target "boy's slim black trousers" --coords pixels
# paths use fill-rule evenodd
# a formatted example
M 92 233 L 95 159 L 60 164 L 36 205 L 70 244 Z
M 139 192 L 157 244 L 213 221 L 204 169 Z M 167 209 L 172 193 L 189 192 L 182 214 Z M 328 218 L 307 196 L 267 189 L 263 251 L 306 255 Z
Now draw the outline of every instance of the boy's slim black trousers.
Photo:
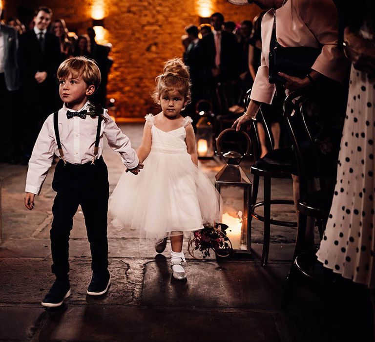
M 69 272 L 69 235 L 73 228 L 73 216 L 81 205 L 90 243 L 94 272 L 108 267 L 107 209 L 109 198 L 108 171 L 103 158 L 94 165 L 66 164 L 62 160 L 56 166 L 52 188 L 57 192 L 53 207 L 50 230 L 52 273 L 66 278 Z

